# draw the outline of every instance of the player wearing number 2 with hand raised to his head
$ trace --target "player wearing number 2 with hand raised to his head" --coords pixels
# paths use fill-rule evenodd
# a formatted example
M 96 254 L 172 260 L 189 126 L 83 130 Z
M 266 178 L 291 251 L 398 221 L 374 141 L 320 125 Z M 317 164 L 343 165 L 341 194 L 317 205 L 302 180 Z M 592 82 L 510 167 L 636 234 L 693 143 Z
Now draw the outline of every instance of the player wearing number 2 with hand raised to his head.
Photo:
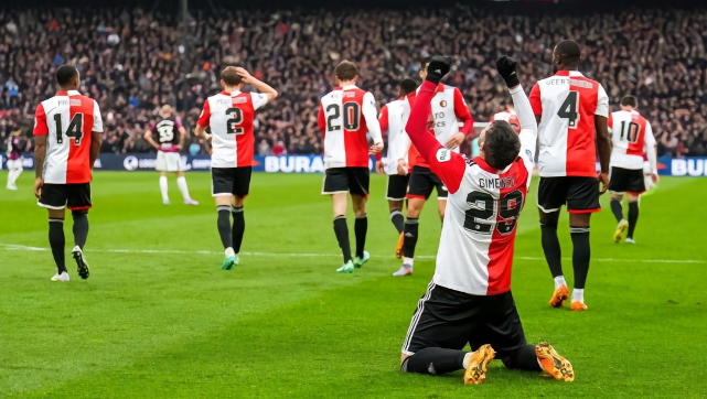
M 245 85 L 251 85 L 259 93 L 240 91 Z M 234 66 L 222 71 L 221 86 L 223 91 L 204 101 L 194 134 L 212 144 L 211 194 L 216 202 L 216 226 L 224 246 L 222 269 L 231 270 L 240 261 L 238 252 L 246 228 L 243 205 L 253 172 L 255 111 L 271 103 L 278 93 L 246 69 Z M 211 133 L 206 133 L 206 128 Z

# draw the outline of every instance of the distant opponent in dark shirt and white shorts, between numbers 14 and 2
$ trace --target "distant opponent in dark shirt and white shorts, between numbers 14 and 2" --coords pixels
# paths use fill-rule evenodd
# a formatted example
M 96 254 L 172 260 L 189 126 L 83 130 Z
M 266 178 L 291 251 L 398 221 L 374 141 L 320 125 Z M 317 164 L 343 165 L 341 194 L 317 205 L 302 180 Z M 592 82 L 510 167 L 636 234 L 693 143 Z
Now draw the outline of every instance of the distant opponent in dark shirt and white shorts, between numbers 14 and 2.
M 160 172 L 162 204 L 170 204 L 170 197 L 167 194 L 167 173 L 174 172 L 176 174 L 176 186 L 182 192 L 184 205 L 199 205 L 199 203 L 189 195 L 186 177 L 184 177 L 182 160 L 179 154 L 184 148 L 186 130 L 182 126 L 180 118 L 173 115 L 173 109 L 169 105 L 162 106 L 160 117 L 162 119 L 144 132 L 144 139 L 157 150 L 157 164 L 154 169 Z M 152 134 L 157 134 L 157 141 L 152 138 Z

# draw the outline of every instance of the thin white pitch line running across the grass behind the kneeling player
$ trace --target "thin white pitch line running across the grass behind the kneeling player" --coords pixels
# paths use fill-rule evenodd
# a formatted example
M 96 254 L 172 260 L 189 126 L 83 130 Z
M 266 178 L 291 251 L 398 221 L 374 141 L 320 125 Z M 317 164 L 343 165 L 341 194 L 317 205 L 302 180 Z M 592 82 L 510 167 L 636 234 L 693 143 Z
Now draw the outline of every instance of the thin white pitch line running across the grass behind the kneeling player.
M 0 247 L 4 247 L 8 250 L 29 250 L 29 251 L 49 251 L 50 248 L 41 247 L 30 247 L 24 245 L 17 244 L 0 244 Z M 205 250 L 179 250 L 179 249 L 90 249 L 88 248 L 86 252 L 108 252 L 108 254 L 184 254 L 184 255 L 222 255 L 222 251 L 205 251 Z M 339 258 L 341 254 L 320 254 L 320 252 L 240 252 L 245 256 L 251 257 L 310 257 L 310 258 Z M 388 259 L 390 257 L 383 255 L 372 255 L 373 258 Z M 435 259 L 435 255 L 417 255 L 415 256 L 418 259 Z M 519 260 L 545 260 L 545 258 L 539 257 L 519 257 L 516 256 L 515 259 Z M 563 258 L 564 260 L 571 260 L 571 258 Z M 625 261 L 635 261 L 640 263 L 707 263 L 707 260 L 699 259 L 617 259 L 617 258 L 596 258 L 591 259 L 592 261 L 598 262 L 625 262 Z

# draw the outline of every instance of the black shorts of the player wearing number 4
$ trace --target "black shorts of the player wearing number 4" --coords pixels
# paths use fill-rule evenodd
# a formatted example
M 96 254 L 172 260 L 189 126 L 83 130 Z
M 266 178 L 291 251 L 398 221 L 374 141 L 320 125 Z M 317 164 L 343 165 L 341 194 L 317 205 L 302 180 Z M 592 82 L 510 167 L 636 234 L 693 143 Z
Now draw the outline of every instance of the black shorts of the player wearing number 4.
M 561 176 L 540 177 L 537 207 L 543 212 L 557 212 L 567 204 L 570 214 L 589 214 L 601 211 L 597 177 Z

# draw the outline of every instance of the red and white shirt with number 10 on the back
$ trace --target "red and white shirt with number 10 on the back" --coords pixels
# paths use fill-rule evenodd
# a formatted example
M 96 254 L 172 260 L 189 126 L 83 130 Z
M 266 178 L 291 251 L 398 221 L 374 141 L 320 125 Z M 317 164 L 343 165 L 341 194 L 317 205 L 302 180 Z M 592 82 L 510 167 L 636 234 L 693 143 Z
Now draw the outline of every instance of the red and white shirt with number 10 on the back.
M 618 111 L 609 116 L 611 133 L 611 166 L 643 169 L 643 154 L 647 154 L 651 172 L 657 173 L 655 137 L 651 122 L 636 110 Z

